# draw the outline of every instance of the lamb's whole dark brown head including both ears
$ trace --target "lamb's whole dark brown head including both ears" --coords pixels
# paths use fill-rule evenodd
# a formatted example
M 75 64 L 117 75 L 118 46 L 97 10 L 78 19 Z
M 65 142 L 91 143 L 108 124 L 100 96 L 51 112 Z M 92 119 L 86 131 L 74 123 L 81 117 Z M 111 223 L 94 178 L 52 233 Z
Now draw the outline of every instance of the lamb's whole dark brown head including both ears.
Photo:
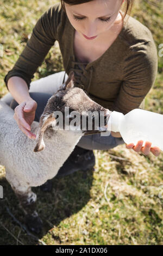
M 83 89 L 74 87 L 74 81 L 71 71 L 67 81 L 48 100 L 40 117 L 34 152 L 45 148 L 43 134 L 48 128 L 80 132 L 82 136 L 107 130 L 109 109 L 90 99 Z

